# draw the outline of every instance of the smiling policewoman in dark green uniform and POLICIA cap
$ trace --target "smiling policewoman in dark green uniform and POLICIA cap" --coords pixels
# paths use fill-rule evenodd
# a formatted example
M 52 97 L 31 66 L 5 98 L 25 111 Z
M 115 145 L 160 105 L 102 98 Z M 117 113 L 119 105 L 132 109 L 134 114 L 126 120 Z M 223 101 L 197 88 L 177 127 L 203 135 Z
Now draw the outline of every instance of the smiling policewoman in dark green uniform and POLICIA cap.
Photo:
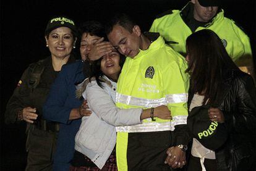
M 59 125 L 43 119 L 42 106 L 62 65 L 75 60 L 74 21 L 62 16 L 49 20 L 45 40 L 51 56 L 30 64 L 23 72 L 5 113 L 6 123 L 27 122 L 26 170 L 29 171 L 52 170 Z

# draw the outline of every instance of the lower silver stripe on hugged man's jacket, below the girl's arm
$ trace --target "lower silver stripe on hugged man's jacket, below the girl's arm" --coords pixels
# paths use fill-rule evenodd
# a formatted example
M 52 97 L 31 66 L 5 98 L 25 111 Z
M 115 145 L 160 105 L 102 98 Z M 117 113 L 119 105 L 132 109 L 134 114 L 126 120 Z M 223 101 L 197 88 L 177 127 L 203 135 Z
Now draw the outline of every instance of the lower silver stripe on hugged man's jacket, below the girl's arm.
M 171 122 L 147 122 L 132 126 L 116 127 L 117 132 L 155 132 L 155 131 L 173 131 L 174 125 Z

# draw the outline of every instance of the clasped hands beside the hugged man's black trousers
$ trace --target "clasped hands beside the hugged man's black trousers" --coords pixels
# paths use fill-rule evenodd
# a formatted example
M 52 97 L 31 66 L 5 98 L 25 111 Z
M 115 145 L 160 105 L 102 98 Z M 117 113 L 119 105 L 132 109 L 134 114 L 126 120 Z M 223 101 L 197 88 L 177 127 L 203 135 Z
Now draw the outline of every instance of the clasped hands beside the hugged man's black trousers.
M 164 161 L 165 164 L 168 164 L 172 168 L 182 168 L 186 165 L 186 152 L 182 151 L 181 148 L 177 146 L 171 147 L 166 151 L 168 155 Z

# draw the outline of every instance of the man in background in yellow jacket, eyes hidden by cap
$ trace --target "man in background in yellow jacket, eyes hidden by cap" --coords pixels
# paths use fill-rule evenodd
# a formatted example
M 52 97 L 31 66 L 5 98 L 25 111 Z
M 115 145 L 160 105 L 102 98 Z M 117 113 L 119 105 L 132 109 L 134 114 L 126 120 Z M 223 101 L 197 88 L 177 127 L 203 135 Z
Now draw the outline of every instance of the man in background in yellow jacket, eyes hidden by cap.
M 220 6 L 221 0 L 191 0 L 182 10 L 159 15 L 150 31 L 159 32 L 174 50 L 185 56 L 189 35 L 202 29 L 213 30 L 237 66 L 255 78 L 249 37 L 233 20 L 224 17 Z

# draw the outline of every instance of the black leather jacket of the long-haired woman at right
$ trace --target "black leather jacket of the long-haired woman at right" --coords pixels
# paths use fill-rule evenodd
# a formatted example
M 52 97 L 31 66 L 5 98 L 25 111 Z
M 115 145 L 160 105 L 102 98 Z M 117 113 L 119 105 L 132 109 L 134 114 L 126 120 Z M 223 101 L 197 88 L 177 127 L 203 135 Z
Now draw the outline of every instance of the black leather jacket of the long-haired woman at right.
M 228 140 L 215 151 L 218 170 L 255 170 L 256 88 L 250 75 L 229 72 L 224 77 L 219 106 L 229 130 Z M 194 93 L 189 92 L 189 106 Z

